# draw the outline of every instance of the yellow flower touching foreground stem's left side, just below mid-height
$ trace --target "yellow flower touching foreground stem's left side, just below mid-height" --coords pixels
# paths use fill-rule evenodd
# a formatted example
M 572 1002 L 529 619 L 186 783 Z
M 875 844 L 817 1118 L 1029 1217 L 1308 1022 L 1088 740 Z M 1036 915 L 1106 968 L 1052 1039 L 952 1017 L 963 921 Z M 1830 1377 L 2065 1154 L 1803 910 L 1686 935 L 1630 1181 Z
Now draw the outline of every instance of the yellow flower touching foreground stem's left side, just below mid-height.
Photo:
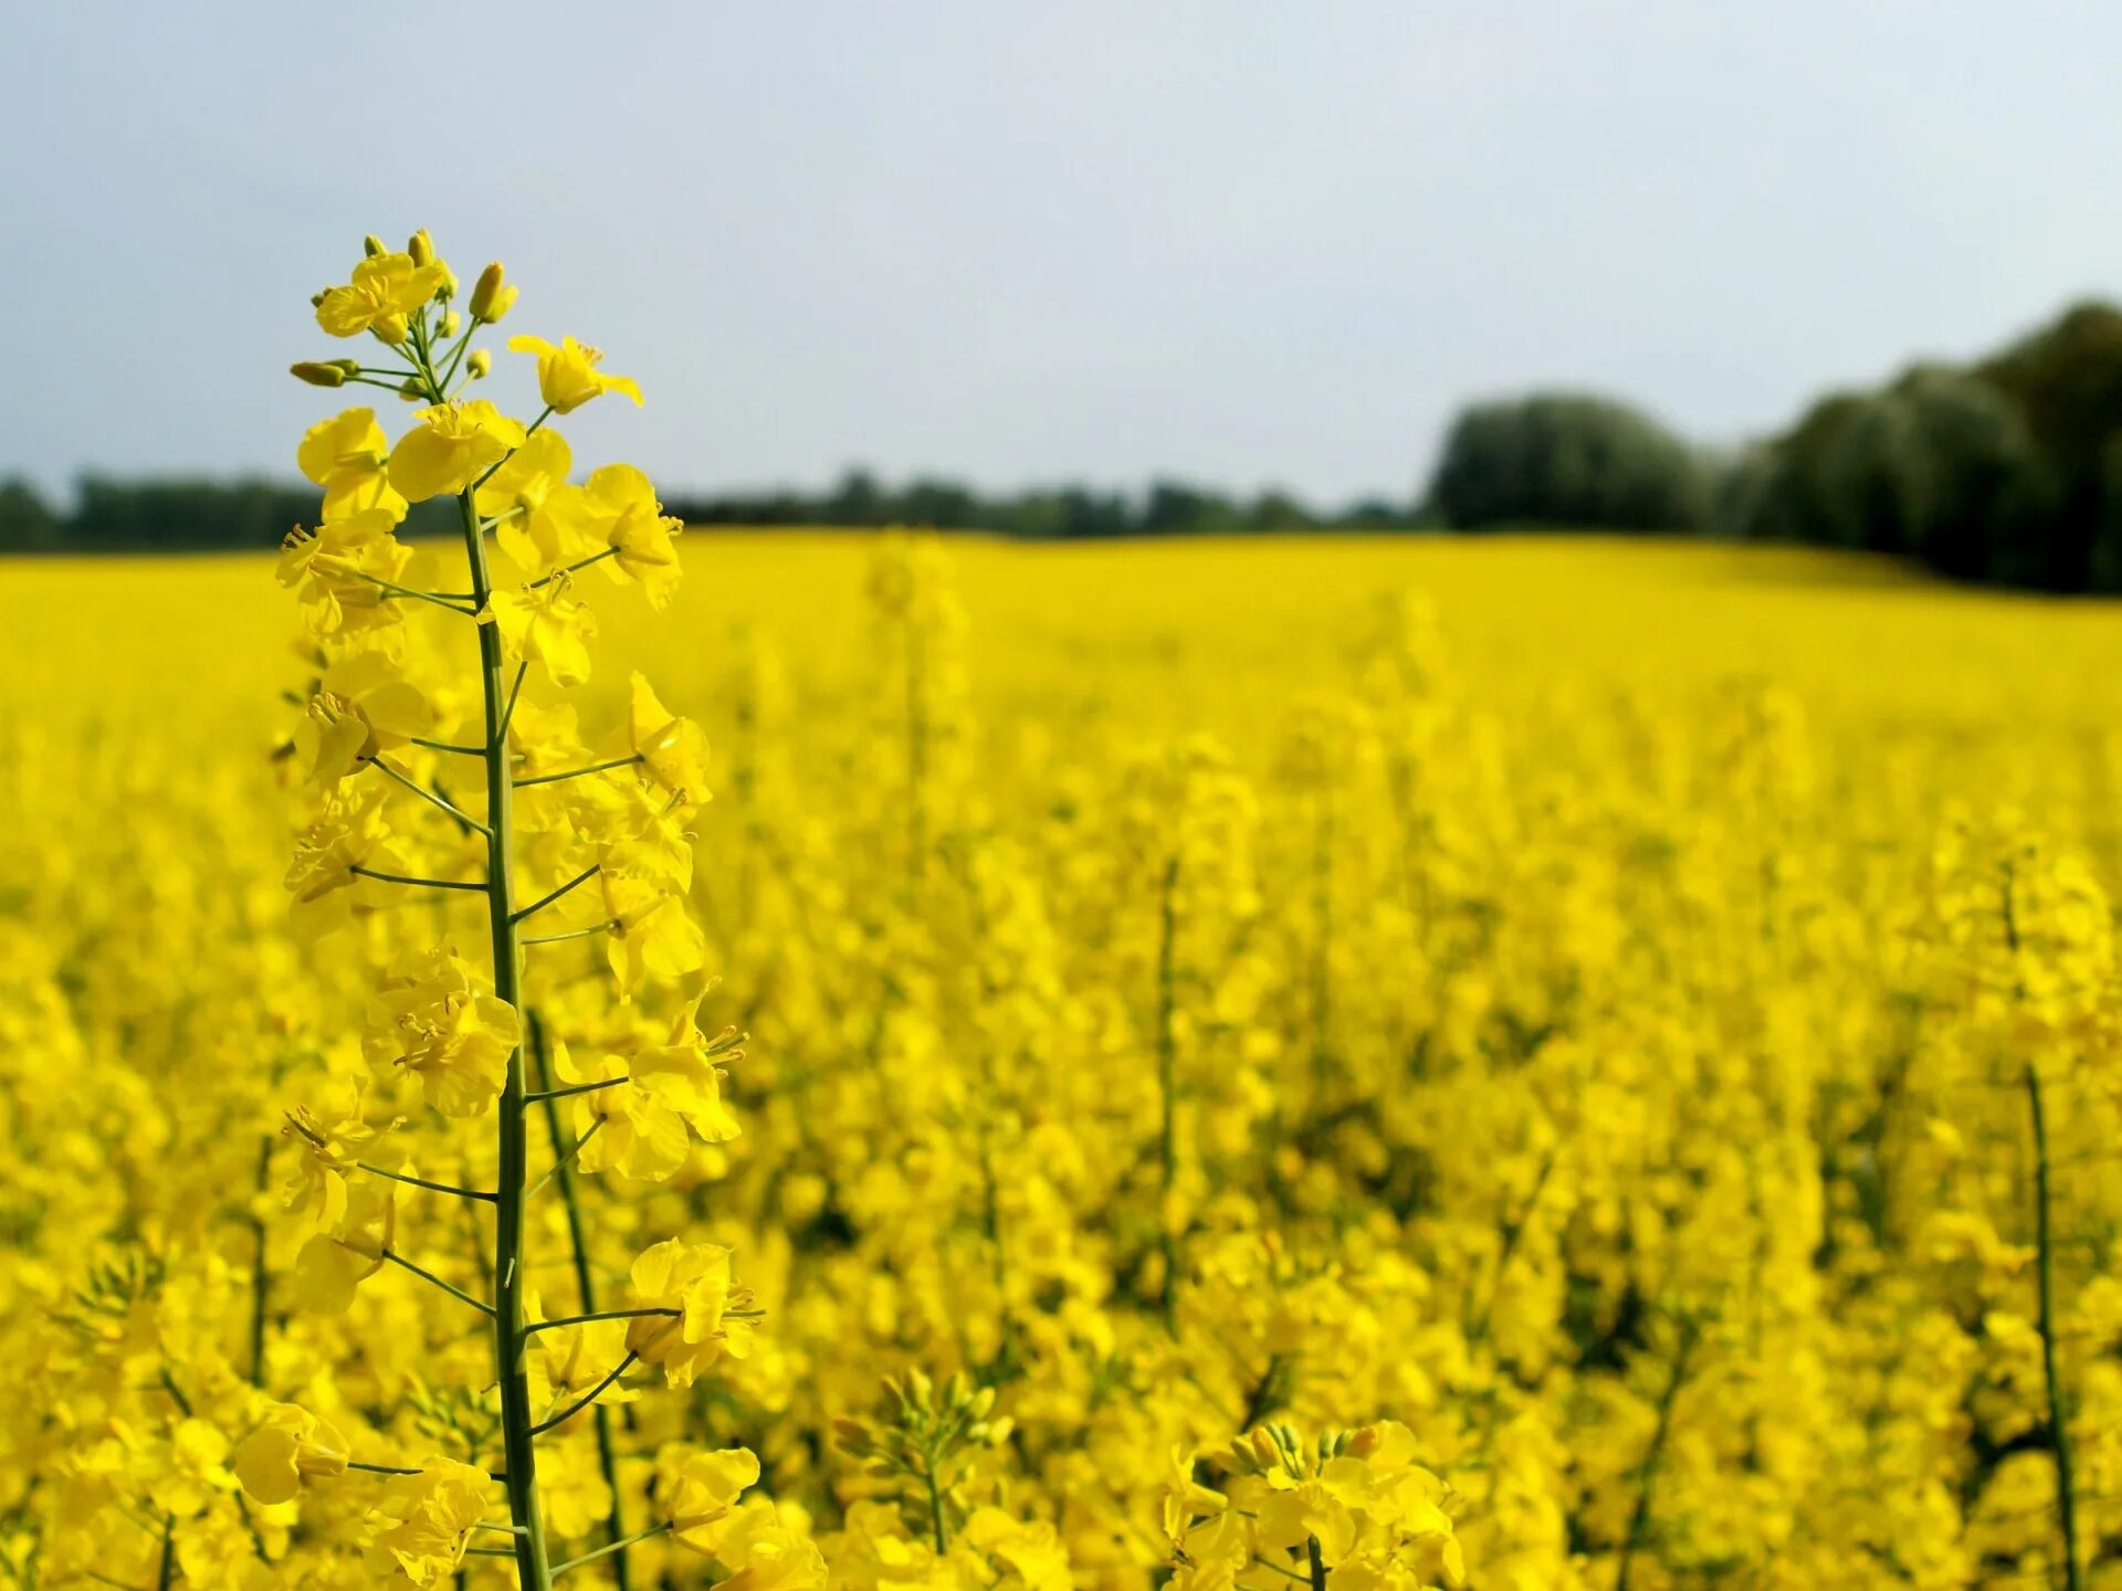
M 361 1048 L 373 1067 L 418 1073 L 422 1097 L 443 1116 L 480 1116 L 501 1095 L 522 1042 L 516 1008 L 452 950 L 399 965 L 369 1001 Z

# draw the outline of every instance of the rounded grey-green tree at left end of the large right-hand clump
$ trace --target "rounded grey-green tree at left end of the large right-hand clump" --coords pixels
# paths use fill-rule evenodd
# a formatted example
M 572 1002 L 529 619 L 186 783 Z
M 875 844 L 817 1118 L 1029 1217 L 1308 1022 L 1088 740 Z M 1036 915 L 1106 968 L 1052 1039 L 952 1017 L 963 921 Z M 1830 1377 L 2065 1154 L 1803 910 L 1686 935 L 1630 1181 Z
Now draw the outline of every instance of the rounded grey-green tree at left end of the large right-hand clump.
M 1460 412 L 1428 503 L 1458 530 L 1702 530 L 1710 482 L 1695 452 L 1638 409 L 1541 392 Z

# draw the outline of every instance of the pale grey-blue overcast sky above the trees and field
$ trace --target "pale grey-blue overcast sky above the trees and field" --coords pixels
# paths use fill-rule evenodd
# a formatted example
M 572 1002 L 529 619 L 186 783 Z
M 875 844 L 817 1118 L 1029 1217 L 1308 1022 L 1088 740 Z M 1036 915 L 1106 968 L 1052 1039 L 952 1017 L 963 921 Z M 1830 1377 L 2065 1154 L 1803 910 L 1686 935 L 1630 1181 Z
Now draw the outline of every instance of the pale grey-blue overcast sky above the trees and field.
M 289 473 L 418 225 L 666 490 L 1407 496 L 1530 384 L 1729 441 L 2122 291 L 2118 68 L 2105 0 L 4 4 L 0 473 Z

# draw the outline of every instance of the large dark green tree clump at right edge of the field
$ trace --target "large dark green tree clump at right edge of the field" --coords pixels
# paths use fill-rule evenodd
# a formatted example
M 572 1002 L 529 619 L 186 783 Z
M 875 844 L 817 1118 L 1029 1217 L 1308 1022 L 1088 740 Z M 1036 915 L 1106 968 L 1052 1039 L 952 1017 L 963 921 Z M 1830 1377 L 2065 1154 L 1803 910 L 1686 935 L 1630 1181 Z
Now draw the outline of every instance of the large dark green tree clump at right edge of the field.
M 1797 541 L 1954 579 L 2122 590 L 2122 310 L 2077 303 L 1995 354 L 1831 392 L 1736 454 L 1625 403 L 1464 409 L 1430 513 L 1458 530 L 1581 526 Z

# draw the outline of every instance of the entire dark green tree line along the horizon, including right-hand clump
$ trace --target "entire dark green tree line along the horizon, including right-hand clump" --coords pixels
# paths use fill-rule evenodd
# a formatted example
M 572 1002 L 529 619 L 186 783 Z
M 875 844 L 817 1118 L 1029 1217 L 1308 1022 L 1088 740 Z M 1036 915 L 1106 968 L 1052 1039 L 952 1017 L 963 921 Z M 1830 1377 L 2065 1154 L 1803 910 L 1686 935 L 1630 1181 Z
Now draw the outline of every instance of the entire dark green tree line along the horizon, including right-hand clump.
M 1464 407 L 1405 503 L 1318 509 L 1161 479 L 1146 490 L 980 492 L 849 469 L 823 492 L 683 494 L 690 524 L 934 526 L 1027 539 L 1504 526 L 1799 541 L 1918 558 L 1956 579 L 2122 590 L 2122 310 L 2080 303 L 1988 359 L 1918 363 L 1831 392 L 1738 452 L 1619 399 L 1534 392 Z M 410 530 L 448 532 L 414 511 Z M 91 475 L 59 509 L 0 482 L 0 552 L 187 552 L 276 543 L 316 511 L 280 482 Z

